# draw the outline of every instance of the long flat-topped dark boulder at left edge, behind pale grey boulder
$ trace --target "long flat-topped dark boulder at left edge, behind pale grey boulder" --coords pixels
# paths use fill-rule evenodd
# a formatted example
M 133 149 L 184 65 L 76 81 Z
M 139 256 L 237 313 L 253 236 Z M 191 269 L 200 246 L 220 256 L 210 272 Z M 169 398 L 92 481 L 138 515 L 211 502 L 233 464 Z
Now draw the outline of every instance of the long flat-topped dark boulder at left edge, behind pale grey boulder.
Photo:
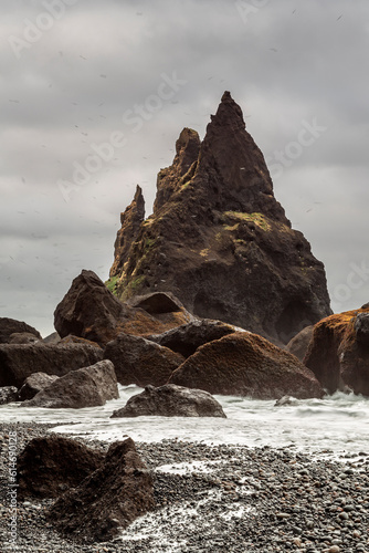
M 85 344 L 2 344 L 0 345 L 0 386 L 20 388 L 33 373 L 63 376 L 70 371 L 93 365 L 103 351 Z

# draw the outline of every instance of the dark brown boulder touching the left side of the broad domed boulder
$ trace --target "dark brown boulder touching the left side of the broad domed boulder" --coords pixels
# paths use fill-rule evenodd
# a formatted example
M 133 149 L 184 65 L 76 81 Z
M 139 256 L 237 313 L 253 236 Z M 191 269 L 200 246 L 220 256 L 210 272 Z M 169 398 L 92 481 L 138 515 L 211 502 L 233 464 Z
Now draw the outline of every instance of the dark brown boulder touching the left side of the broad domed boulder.
M 172 372 L 184 361 L 182 355 L 168 347 L 128 334 L 120 334 L 109 342 L 105 347 L 104 358 L 113 362 L 119 384 L 136 384 L 140 387 L 147 384 L 166 384 Z

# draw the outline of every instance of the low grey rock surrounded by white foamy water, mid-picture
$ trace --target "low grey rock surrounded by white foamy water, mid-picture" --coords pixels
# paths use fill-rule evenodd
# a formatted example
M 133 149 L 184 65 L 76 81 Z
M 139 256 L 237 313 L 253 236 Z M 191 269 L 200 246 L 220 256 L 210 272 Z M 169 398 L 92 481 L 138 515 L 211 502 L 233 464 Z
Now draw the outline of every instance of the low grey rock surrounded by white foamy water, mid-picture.
M 113 413 L 110 418 L 141 417 L 222 417 L 222 406 L 208 392 L 189 389 L 175 384 L 155 388 L 146 386 L 145 390 L 128 399 L 127 404 Z

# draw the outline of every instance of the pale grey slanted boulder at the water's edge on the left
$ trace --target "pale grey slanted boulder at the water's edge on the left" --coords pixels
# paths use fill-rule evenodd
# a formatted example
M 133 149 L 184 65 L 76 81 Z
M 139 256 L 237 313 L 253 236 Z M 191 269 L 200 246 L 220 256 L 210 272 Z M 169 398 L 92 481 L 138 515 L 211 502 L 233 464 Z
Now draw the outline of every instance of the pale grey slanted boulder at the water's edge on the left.
M 110 361 L 104 359 L 91 367 L 71 371 L 22 405 L 52 409 L 81 409 L 105 405 L 107 400 L 118 397 L 114 365 Z

